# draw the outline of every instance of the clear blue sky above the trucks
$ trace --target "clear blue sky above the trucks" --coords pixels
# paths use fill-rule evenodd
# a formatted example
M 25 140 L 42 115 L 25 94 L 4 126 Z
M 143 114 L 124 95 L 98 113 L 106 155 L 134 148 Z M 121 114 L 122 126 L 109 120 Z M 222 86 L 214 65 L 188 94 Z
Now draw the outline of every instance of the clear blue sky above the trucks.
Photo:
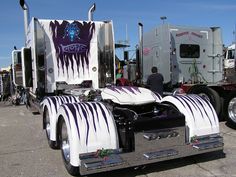
M 138 43 L 138 22 L 144 32 L 162 23 L 210 27 L 219 26 L 227 46 L 233 42 L 236 24 L 235 0 L 26 0 L 30 16 L 46 19 L 87 20 L 95 2 L 94 20 L 113 20 L 115 41 L 125 40 L 126 27 L 130 49 Z M 0 68 L 10 65 L 14 46 L 24 45 L 23 11 L 18 0 L 1 0 Z

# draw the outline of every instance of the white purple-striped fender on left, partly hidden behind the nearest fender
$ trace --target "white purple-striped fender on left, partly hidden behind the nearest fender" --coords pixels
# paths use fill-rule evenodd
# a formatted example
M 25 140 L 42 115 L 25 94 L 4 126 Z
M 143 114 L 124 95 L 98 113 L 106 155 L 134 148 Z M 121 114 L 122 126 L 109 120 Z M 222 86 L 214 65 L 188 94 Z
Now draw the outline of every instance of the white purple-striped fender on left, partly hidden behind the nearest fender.
M 59 106 L 64 103 L 79 102 L 78 98 L 75 96 L 50 96 L 46 97 L 41 103 L 43 116 L 45 116 L 45 111 L 48 110 L 50 118 L 50 140 L 56 141 L 56 114 Z M 45 119 L 45 118 L 44 118 Z M 43 128 L 46 128 L 45 120 L 43 119 Z

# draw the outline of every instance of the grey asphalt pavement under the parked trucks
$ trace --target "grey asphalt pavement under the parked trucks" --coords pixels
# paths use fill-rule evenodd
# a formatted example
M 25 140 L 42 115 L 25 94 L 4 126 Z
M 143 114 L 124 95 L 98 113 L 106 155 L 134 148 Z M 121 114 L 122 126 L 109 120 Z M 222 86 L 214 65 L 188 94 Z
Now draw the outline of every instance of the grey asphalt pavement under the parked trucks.
M 213 152 L 91 177 L 236 177 L 236 130 L 220 122 L 224 153 Z M 68 177 L 60 150 L 49 148 L 42 116 L 0 103 L 0 177 Z

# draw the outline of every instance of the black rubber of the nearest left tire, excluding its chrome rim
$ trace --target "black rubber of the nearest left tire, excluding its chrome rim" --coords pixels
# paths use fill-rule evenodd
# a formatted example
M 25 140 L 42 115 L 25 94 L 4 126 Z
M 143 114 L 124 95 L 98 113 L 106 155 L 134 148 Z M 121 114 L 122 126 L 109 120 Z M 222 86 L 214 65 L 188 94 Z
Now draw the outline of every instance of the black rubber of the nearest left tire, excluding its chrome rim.
M 63 141 L 64 141 L 64 138 L 63 138 L 63 136 L 64 136 L 63 135 L 63 127 L 64 126 L 66 126 L 64 118 L 60 117 L 59 125 L 58 125 L 58 131 L 59 131 L 59 136 L 58 137 L 59 137 L 59 143 L 60 143 L 60 148 L 61 148 L 62 159 L 63 159 L 64 165 L 66 167 L 66 170 L 67 170 L 67 172 L 70 175 L 72 175 L 72 176 L 80 176 L 79 167 L 72 166 L 70 164 L 70 157 L 68 158 L 68 157 L 65 156 L 65 152 L 64 152 L 64 148 L 63 148 Z

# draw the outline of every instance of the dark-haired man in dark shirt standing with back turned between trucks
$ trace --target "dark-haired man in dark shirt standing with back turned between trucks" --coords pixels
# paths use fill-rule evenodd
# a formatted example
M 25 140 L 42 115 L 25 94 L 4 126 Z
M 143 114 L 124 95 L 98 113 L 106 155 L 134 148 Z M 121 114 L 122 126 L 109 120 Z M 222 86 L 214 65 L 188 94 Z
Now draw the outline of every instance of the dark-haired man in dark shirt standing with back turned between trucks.
M 152 74 L 148 76 L 147 79 L 147 87 L 150 88 L 151 91 L 163 95 L 163 81 L 164 78 L 162 74 L 158 73 L 157 67 L 152 67 Z

